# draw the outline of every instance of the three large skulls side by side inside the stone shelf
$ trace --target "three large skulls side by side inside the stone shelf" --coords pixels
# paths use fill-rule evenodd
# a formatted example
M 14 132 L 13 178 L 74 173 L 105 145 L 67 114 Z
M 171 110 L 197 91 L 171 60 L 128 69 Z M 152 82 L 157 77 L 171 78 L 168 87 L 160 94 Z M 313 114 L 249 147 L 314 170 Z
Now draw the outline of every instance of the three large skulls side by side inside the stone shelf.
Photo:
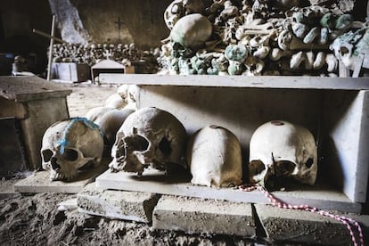
M 317 173 L 316 141 L 305 127 L 282 120 L 266 122 L 251 136 L 250 162 L 244 165 L 241 144 L 225 127 L 203 127 L 187 139 L 174 115 L 153 107 L 127 117 L 117 132 L 111 158 L 112 172 L 144 176 L 146 168 L 189 171 L 192 184 L 210 187 L 242 182 L 268 185 L 275 179 L 312 185 Z

